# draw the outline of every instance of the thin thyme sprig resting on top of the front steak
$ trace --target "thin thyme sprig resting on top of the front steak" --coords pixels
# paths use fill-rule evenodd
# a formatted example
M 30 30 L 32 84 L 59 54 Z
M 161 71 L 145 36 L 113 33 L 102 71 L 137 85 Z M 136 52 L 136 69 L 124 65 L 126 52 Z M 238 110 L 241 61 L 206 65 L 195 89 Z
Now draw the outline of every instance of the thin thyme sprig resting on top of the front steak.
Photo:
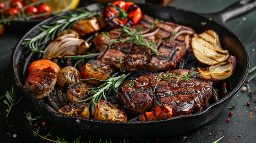
M 193 75 L 186 75 L 186 74 L 184 74 L 184 75 L 178 76 L 180 71 L 181 71 L 181 69 L 178 70 L 177 73 L 175 73 L 175 74 L 174 73 L 168 73 L 168 74 L 164 73 L 162 75 L 157 74 L 154 79 L 157 80 L 157 84 L 162 79 L 168 79 L 168 83 L 170 83 L 172 78 L 177 78 L 176 83 L 178 83 L 180 80 L 186 80 L 188 82 L 189 80 L 192 81 L 191 77 L 201 73 L 201 71 L 200 71 L 200 72 L 194 73 Z M 155 92 L 155 89 L 157 87 L 157 84 L 155 84 L 154 92 Z

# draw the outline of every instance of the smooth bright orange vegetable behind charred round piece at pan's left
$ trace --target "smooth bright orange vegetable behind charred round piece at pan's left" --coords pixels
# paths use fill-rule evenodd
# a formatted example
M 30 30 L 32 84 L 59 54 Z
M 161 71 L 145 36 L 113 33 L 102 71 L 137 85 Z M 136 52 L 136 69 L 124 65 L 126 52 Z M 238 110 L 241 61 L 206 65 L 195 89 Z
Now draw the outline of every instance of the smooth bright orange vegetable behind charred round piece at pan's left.
M 58 64 L 49 59 L 38 59 L 29 65 L 29 73 L 33 70 L 42 70 L 44 68 L 52 67 L 56 73 L 61 69 Z

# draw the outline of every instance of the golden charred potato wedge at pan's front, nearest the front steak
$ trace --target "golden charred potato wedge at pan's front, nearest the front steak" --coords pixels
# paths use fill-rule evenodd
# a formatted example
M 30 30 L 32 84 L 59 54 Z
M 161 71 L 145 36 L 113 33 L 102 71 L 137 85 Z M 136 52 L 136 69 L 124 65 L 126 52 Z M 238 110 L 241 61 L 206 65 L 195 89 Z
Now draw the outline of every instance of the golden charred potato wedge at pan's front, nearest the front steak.
M 125 122 L 127 120 L 127 115 L 125 112 L 123 112 L 114 104 L 106 100 L 101 100 L 97 103 L 95 107 L 94 119 L 104 120 L 104 121 Z

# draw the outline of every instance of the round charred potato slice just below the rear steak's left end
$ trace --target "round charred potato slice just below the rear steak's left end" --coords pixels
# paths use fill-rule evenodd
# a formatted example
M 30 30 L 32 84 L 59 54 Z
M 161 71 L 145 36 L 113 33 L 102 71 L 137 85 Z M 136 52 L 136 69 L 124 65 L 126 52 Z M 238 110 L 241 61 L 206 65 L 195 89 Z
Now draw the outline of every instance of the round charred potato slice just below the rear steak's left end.
M 81 76 L 83 79 L 100 79 L 106 80 L 110 73 L 112 72 L 112 68 L 109 65 L 101 62 L 100 60 L 90 60 L 84 66 L 81 72 Z M 100 84 L 99 81 L 86 81 L 89 84 Z

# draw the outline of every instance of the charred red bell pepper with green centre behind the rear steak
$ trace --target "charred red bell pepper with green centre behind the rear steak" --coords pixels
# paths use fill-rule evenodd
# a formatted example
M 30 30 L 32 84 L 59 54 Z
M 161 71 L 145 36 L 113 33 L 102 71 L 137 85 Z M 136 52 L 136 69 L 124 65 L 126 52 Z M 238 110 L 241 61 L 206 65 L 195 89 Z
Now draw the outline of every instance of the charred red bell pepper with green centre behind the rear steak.
M 109 3 L 103 9 L 103 15 L 110 26 L 117 28 L 137 24 L 142 17 L 142 12 L 134 2 L 118 0 Z

